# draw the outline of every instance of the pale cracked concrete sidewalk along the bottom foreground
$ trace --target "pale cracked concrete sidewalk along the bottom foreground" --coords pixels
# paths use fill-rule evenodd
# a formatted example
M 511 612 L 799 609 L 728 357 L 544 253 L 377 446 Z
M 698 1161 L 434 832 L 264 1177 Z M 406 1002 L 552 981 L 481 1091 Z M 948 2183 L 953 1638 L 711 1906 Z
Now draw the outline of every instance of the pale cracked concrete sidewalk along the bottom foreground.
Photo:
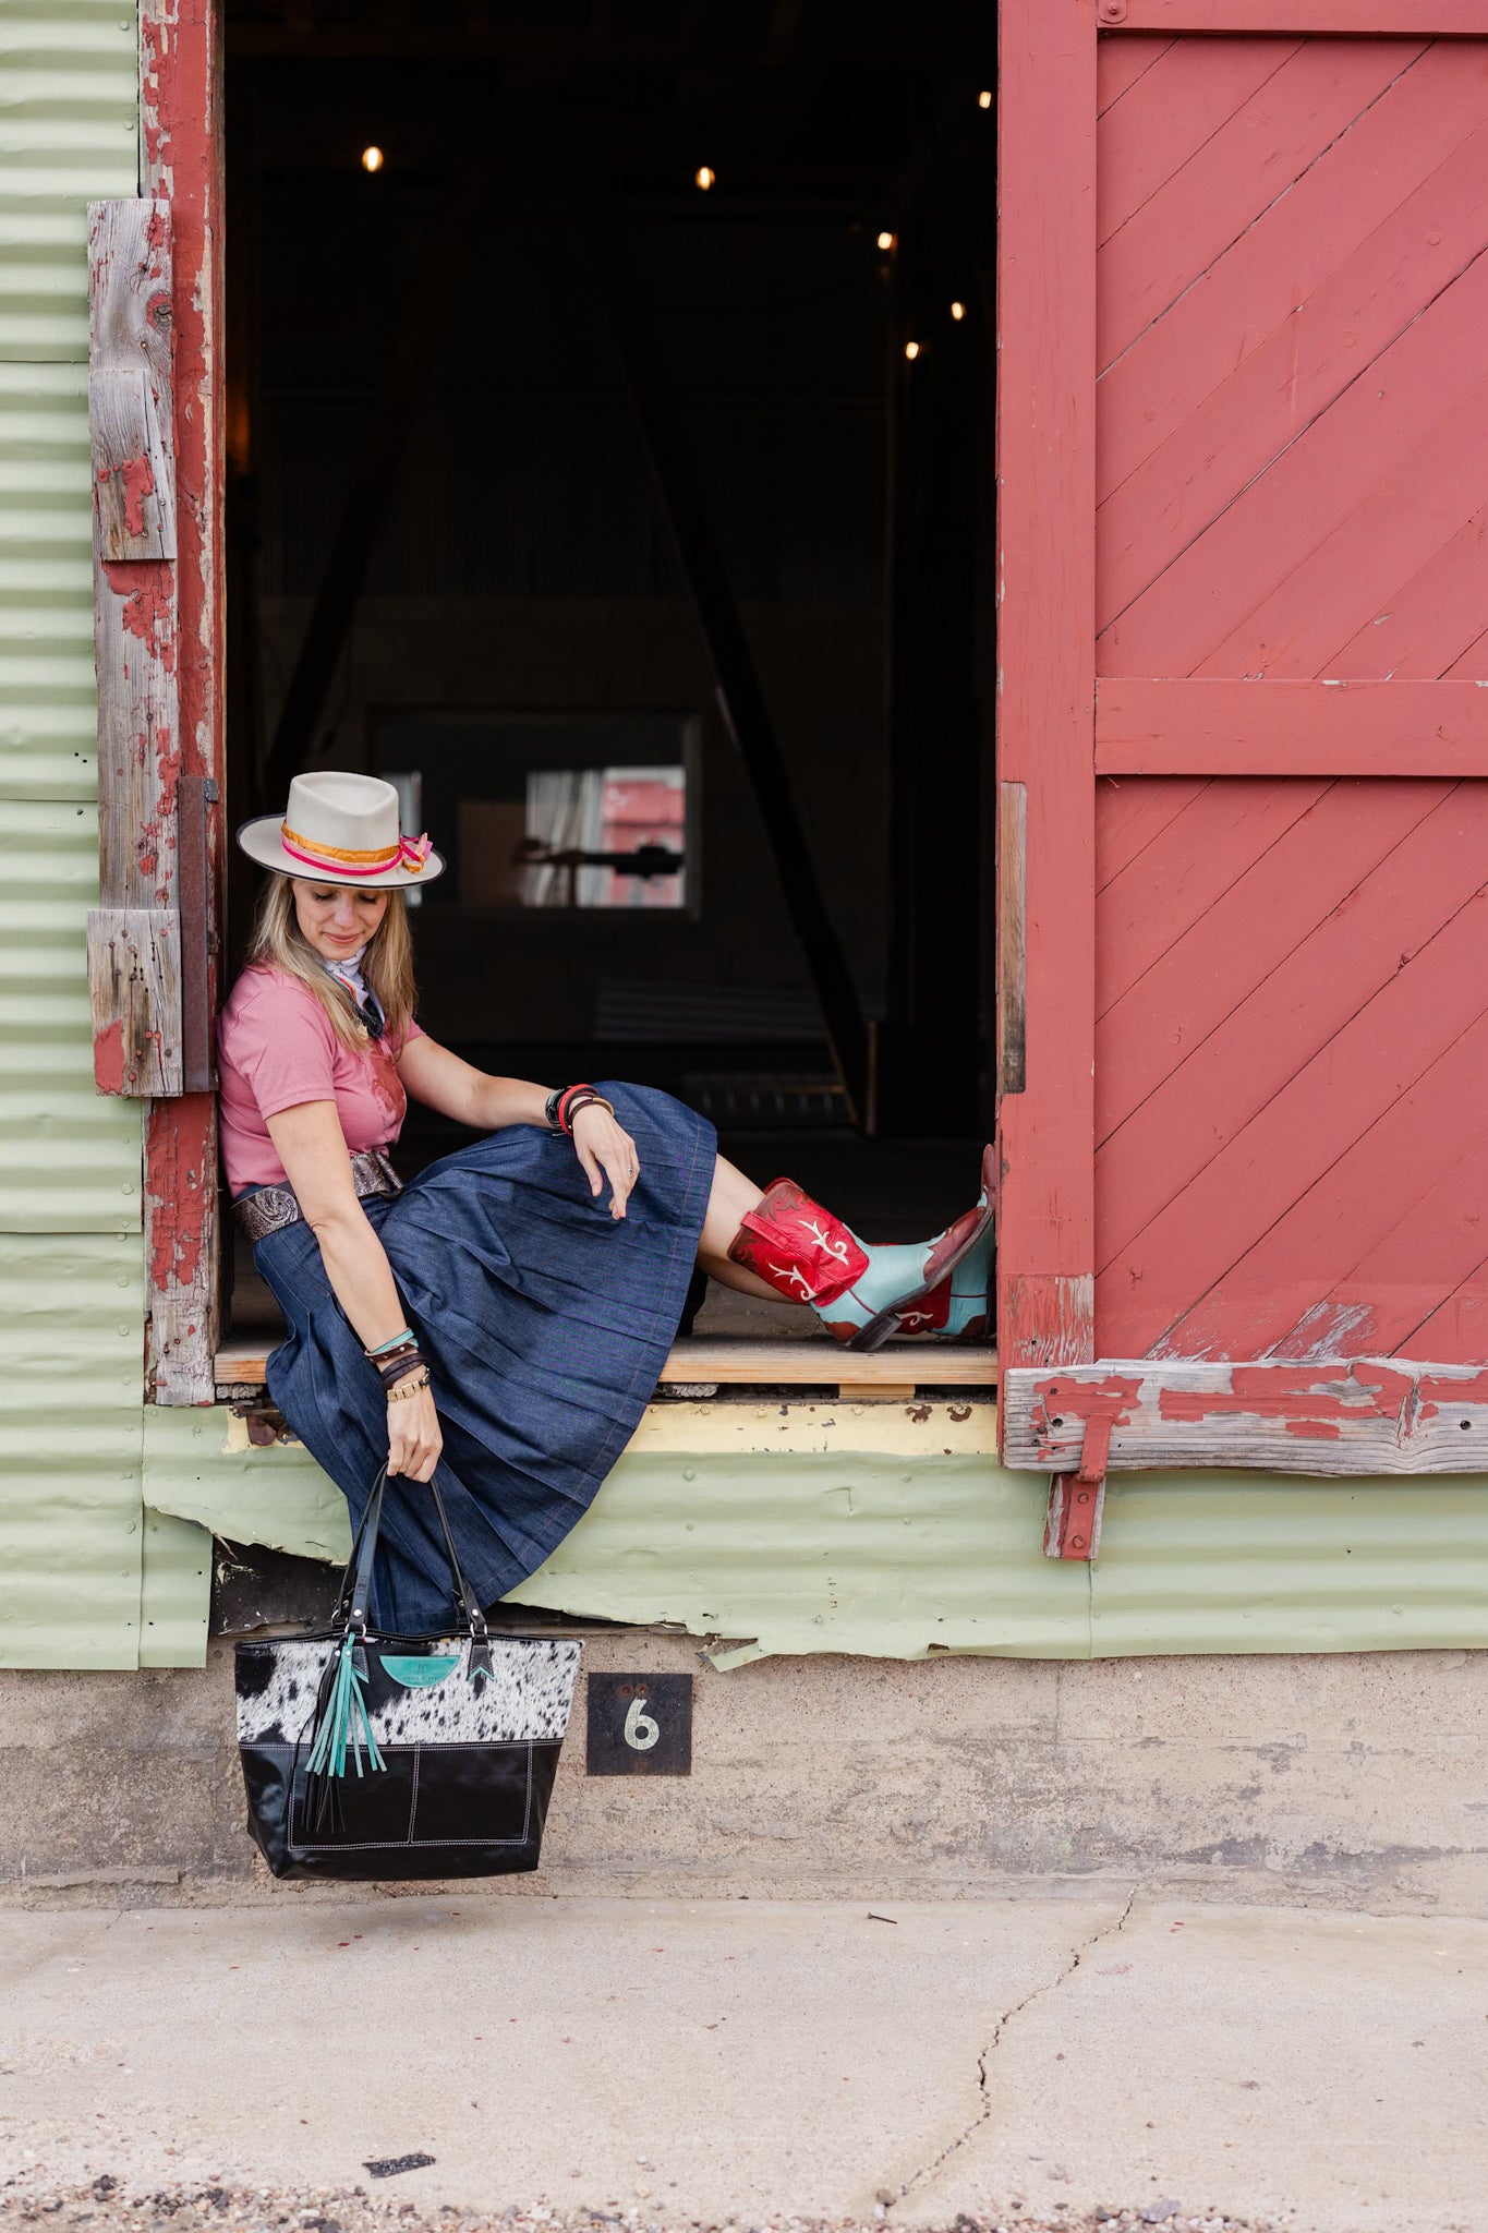
M 0 1916 L 13 2202 L 100 2173 L 344 2193 L 422 2153 L 368 2193 L 642 2229 L 1176 2202 L 1481 2233 L 1486 2077 L 1481 1920 L 500 1887 Z

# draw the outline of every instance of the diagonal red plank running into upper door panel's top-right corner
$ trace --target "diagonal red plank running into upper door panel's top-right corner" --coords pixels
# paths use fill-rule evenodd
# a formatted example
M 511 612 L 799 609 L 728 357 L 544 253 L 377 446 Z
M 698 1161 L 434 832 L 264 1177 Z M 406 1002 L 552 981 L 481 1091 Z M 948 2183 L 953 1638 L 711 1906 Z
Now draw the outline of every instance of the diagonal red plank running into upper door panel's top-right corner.
M 1191 47 L 1205 51 L 1202 42 Z M 1428 47 L 1292 192 L 1240 226 L 1194 286 L 1104 373 L 1098 502 L 1191 413 L 1207 409 L 1207 397 L 1269 335 L 1289 326 L 1298 304 L 1390 221 L 1481 114 L 1481 74 L 1463 67 L 1461 49 Z

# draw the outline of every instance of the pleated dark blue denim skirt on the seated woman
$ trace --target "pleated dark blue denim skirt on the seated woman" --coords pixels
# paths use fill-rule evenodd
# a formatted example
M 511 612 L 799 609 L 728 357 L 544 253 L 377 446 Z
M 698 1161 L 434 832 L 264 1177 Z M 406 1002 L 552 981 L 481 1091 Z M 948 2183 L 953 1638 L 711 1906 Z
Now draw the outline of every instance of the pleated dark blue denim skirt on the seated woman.
M 388 1250 L 433 1382 L 435 1474 L 471 1590 L 491 1608 L 589 1507 L 656 1389 L 687 1302 L 714 1179 L 714 1128 L 669 1094 L 605 1085 L 636 1139 L 627 1215 L 596 1199 L 573 1141 L 511 1125 L 364 1208 Z M 388 1456 L 388 1409 L 306 1224 L 254 1262 L 288 1320 L 270 1396 L 350 1505 Z M 373 1619 L 448 1628 L 448 1559 L 417 1480 L 388 1480 Z

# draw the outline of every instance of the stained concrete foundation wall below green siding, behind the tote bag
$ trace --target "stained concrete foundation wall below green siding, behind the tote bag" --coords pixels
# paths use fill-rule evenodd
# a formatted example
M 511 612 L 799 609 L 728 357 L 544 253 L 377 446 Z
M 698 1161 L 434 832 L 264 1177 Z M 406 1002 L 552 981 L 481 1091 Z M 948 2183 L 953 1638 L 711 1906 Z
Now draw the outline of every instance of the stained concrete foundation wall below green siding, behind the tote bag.
M 1216 1900 L 1488 1914 L 1488 1657 L 774 1659 L 602 1632 L 589 1668 L 696 1675 L 692 1777 L 587 1777 L 491 1896 L 966 1898 L 1142 1880 Z M 261 1900 L 232 1657 L 0 1675 L 0 1896 Z M 335 1889 L 335 1887 L 332 1887 Z

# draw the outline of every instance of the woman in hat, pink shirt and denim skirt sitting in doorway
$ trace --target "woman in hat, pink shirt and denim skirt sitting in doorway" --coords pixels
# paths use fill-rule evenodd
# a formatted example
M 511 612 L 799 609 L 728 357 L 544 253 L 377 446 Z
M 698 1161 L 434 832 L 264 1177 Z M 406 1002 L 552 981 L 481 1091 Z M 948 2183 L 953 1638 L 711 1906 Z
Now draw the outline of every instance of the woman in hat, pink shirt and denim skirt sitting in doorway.
M 493 1079 L 428 1038 L 404 889 L 444 862 L 399 833 L 390 784 L 299 775 L 283 820 L 239 844 L 274 873 L 221 1018 L 221 1137 L 290 1329 L 270 1393 L 352 1516 L 384 1458 L 437 1472 L 482 1606 L 542 1565 L 629 1443 L 696 1266 L 859 1346 L 984 1331 L 986 1159 L 979 1206 L 937 1239 L 868 1246 L 788 1179 L 761 1192 L 669 1094 Z M 399 1186 L 408 1094 L 486 1137 Z M 446 1614 L 428 1501 L 386 1498 L 377 1626 Z

